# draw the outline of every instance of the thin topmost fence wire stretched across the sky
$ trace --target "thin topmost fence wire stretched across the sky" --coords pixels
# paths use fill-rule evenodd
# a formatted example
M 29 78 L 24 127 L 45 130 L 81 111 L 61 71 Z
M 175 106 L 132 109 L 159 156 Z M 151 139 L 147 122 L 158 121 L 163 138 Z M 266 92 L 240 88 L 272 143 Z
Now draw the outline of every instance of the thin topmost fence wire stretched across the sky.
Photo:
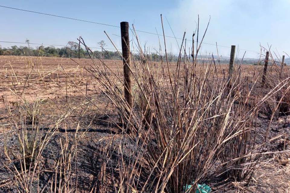
M 95 21 L 82 20 L 82 19 L 78 19 L 78 18 L 65 17 L 65 16 L 60 16 L 60 15 L 55 15 L 55 14 L 48 14 L 48 13 L 43 13 L 43 12 L 39 12 L 39 11 L 31 11 L 31 10 L 13 8 L 13 7 L 8 7 L 8 6 L 3 6 L 3 5 L 0 5 L 0 7 L 2 7 L 2 8 L 8 8 L 8 9 L 13 9 L 13 10 L 18 10 L 18 11 L 25 11 L 25 12 L 30 12 L 30 13 L 48 15 L 48 16 L 53 16 L 53 17 L 59 17 L 59 18 L 63 18 L 63 19 L 70 19 L 70 20 L 74 20 L 74 21 L 81 21 L 81 22 L 86 22 L 86 23 L 92 23 L 92 24 L 98 24 L 98 25 L 104 25 L 104 26 L 109 26 L 109 27 L 120 28 L 120 26 L 116 26 L 116 25 L 112 25 L 112 24 L 105 24 L 105 23 L 99 23 L 99 22 L 95 22 Z M 136 31 L 137 32 L 141 32 L 141 33 L 151 34 L 151 35 L 163 36 L 163 35 L 158 34 L 158 33 L 147 32 L 147 31 L 143 31 L 143 30 L 136 30 Z M 177 39 L 177 40 L 182 40 L 182 38 L 173 37 L 173 36 L 165 36 L 165 37 L 174 38 L 174 39 Z M 192 42 L 192 40 L 187 40 L 187 41 Z M 200 42 L 198 42 L 198 43 L 200 43 Z M 222 46 L 222 45 L 218 45 L 217 43 L 216 44 L 214 44 L 214 43 L 207 43 L 207 42 L 201 42 L 201 43 L 202 44 L 207 44 L 207 45 L 212 45 L 212 46 L 218 46 L 218 47 L 224 47 L 224 48 L 231 48 L 230 46 Z M 238 50 L 243 50 L 243 51 L 247 51 L 247 52 L 254 52 L 254 53 L 260 54 L 260 52 L 253 51 L 253 50 L 250 50 L 250 49 L 241 49 L 241 48 L 238 48 Z

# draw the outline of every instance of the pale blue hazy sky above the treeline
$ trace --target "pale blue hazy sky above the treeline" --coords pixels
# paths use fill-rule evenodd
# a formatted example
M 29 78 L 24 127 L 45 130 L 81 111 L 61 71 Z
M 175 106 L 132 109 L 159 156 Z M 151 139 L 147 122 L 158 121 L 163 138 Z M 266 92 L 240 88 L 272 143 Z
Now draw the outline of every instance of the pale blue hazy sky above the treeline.
M 200 16 L 200 34 L 205 30 L 209 16 L 211 22 L 204 42 L 218 45 L 237 45 L 240 49 L 259 52 L 259 44 L 277 54 L 287 52 L 290 55 L 290 1 L 289 0 L 160 0 L 160 1 L 36 1 L 13 0 L 0 1 L 0 5 L 31 11 L 44 12 L 65 17 L 119 26 L 121 21 L 128 21 L 137 30 L 162 33 L 160 14 L 163 14 L 165 33 L 182 37 L 186 31 L 188 40 L 196 28 L 197 16 Z M 107 48 L 113 48 L 104 30 L 114 43 L 121 48 L 120 29 L 91 23 L 83 23 L 57 17 L 27 13 L 0 8 L 0 41 L 66 45 L 82 36 L 91 47 L 105 40 Z M 169 21 L 167 23 L 166 19 Z M 201 37 L 200 35 L 200 37 Z M 132 34 L 130 34 L 132 37 Z M 141 43 L 150 51 L 159 49 L 156 35 L 138 33 Z M 163 39 L 161 44 L 163 47 Z M 181 40 L 178 40 L 180 45 Z M 167 50 L 178 53 L 176 40 L 166 38 Z M 191 42 L 187 42 L 187 46 Z M 12 44 L 0 43 L 2 47 Z M 164 48 L 163 48 L 164 50 Z M 230 48 L 218 47 L 220 55 L 228 56 Z M 203 44 L 201 53 L 216 54 L 216 47 Z M 243 55 L 239 51 L 239 56 Z M 246 52 L 246 57 L 258 57 L 255 52 Z

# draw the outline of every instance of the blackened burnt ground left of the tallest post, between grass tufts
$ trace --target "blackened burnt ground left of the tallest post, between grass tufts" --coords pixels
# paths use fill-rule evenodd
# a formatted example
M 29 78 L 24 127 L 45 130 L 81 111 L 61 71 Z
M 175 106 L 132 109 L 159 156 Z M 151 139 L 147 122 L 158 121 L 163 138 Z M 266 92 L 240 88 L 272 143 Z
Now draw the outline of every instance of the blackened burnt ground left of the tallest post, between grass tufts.
M 93 100 L 92 96 L 87 97 Z M 105 100 L 105 98 L 103 94 L 98 96 L 98 100 Z M 37 123 L 41 135 L 45 136 L 47 132 L 51 132 L 50 129 L 53 128 L 59 117 L 69 110 L 75 109 L 76 106 L 83 104 L 83 100 L 83 97 L 71 97 L 66 101 L 64 97 L 58 98 L 58 100 L 45 101 Z M 67 106 L 68 103 L 71 104 L 71 108 Z M 111 169 L 115 169 L 113 166 L 116 166 L 118 162 L 118 147 L 120 144 L 124 146 L 123 158 L 127 161 L 130 159 L 130 151 L 134 149 L 134 142 L 127 136 L 122 135 L 118 126 L 112 123 L 112 120 L 118 122 L 118 115 L 114 110 L 108 108 L 109 105 L 98 108 L 92 106 L 87 104 L 75 109 L 57 128 L 56 133 L 42 153 L 41 167 L 46 171 L 41 173 L 38 180 L 40 187 L 44 187 L 47 181 L 53 177 L 51 170 L 55 166 L 55 160 L 61 156 L 59 152 L 61 149 L 60 139 L 69 141 L 69 147 L 71 148 L 73 147 L 73 140 L 76 138 L 79 140 L 78 147 L 74 149 L 77 152 L 77 159 L 72 162 L 72 170 L 74 172 L 77 171 L 78 189 L 85 192 L 95 188 L 102 162 L 112 166 L 108 168 L 108 172 L 111 172 Z M 16 106 L 11 106 L 10 108 L 14 119 L 17 119 L 19 115 L 18 108 Z M 104 110 L 106 115 L 103 112 Z M 4 155 L 4 144 L 7 145 L 11 152 L 19 151 L 18 134 L 15 131 L 15 126 L 11 124 L 12 120 L 7 109 L 1 108 L 0 114 L 1 131 L 3 131 L 0 134 L 0 192 L 17 192 L 13 182 L 9 180 L 11 172 L 4 166 L 6 164 L 13 169 L 13 166 L 9 164 L 8 158 Z M 27 130 L 31 129 L 31 125 L 25 126 Z M 109 150 L 109 155 L 106 155 L 106 152 L 108 153 L 107 150 Z M 9 156 L 11 156 L 11 160 L 16 159 L 11 154 Z M 17 160 L 14 161 L 14 164 L 20 169 Z

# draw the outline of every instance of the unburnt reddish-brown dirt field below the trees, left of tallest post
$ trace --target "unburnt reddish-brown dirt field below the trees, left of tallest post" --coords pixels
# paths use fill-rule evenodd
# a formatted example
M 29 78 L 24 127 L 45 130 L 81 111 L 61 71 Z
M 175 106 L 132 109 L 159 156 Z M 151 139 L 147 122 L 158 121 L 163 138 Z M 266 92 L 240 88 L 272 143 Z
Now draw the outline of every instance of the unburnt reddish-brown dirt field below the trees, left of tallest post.
M 73 61 L 75 60 L 75 61 Z M 1 97 L 17 103 L 15 92 L 31 101 L 37 98 L 53 99 L 95 93 L 95 81 L 84 70 L 90 59 L 50 57 L 1 56 Z M 77 62 L 81 65 L 78 65 Z M 114 71 L 122 68 L 121 61 L 106 61 Z M 23 89 L 25 86 L 25 89 Z M 2 98 L 3 99 L 3 98 Z M 1 104 L 3 107 L 3 103 Z

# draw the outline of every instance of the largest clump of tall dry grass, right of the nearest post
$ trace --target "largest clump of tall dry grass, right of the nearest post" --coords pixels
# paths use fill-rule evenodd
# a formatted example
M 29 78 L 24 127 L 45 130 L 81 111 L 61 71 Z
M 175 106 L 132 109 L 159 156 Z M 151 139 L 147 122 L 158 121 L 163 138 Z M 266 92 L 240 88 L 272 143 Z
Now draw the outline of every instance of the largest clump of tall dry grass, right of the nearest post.
M 126 123 L 121 129 L 130 129 L 136 144 L 129 163 L 120 153 L 118 192 L 195 192 L 198 184 L 216 177 L 249 183 L 267 142 L 264 136 L 265 141 L 257 145 L 254 120 L 265 101 L 285 85 L 258 98 L 254 95 L 257 78 L 243 79 L 242 68 L 220 78 L 212 59 L 206 59 L 197 73 L 197 60 L 191 64 L 187 58 L 182 64 L 180 52 L 171 70 L 168 60 L 155 65 L 139 49 L 141 61 L 133 60 L 130 67 L 137 93 L 132 109 L 119 87 L 124 80 L 121 74 L 101 59 L 92 59 L 95 66 L 87 69 Z M 140 160 L 145 161 L 141 166 Z M 145 180 L 139 182 L 138 176 Z

